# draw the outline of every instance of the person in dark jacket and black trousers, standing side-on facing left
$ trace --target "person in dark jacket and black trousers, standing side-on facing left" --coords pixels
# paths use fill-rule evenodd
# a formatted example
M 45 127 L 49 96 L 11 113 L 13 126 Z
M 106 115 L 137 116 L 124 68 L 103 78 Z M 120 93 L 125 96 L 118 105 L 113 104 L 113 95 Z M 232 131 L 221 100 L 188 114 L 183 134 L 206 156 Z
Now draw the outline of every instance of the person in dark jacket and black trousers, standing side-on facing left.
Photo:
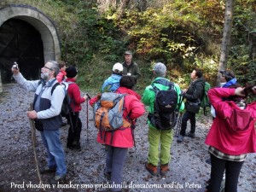
M 202 72 L 200 69 L 193 70 L 190 78 L 192 79 L 192 82 L 189 84 L 188 90 L 183 90 L 183 98 L 186 99 L 186 112 L 183 114 L 181 131 L 177 137 L 177 143 L 182 143 L 183 137 L 185 136 L 195 138 L 195 113 L 198 113 L 200 109 L 205 79 L 202 77 Z M 191 129 L 189 133 L 186 134 L 187 122 L 189 119 Z

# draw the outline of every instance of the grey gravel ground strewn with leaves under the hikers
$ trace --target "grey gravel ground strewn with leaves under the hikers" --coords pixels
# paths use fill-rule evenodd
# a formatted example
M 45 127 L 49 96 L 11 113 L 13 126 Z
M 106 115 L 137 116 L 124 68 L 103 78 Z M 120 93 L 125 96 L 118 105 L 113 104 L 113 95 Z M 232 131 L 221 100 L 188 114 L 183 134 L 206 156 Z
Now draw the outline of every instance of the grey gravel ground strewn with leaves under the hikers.
M 103 176 L 105 148 L 96 143 L 96 128 L 89 108 L 89 125 L 86 125 L 86 104 L 80 118 L 83 122 L 81 151 L 66 148 L 68 126 L 61 127 L 61 141 L 67 161 L 67 179 L 59 185 L 49 185 L 53 174 L 42 175 L 39 183 L 32 150 L 31 128 L 26 110 L 33 93 L 26 92 L 18 84 L 4 84 L 0 95 L 0 192 L 16 191 L 102 191 L 108 180 Z M 204 191 L 210 167 L 205 137 L 212 123 L 211 117 L 197 120 L 196 137 L 185 137 L 183 143 L 172 143 L 170 172 L 166 177 L 152 177 L 145 170 L 148 154 L 148 126 L 146 114 L 137 120 L 137 148 L 129 149 L 125 163 L 125 191 Z M 36 152 L 38 166 L 46 165 L 46 153 L 37 131 Z M 256 191 L 256 155 L 249 154 L 241 170 L 239 192 Z

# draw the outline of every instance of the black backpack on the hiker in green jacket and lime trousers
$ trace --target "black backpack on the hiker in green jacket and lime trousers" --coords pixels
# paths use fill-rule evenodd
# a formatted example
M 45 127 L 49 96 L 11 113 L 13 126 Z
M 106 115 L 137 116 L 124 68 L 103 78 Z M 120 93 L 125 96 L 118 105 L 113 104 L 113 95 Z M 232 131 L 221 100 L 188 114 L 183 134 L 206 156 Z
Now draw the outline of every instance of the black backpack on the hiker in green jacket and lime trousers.
M 154 84 L 169 86 L 168 90 L 159 90 Z M 166 79 L 157 79 L 151 84 L 155 92 L 154 113 L 148 114 L 148 119 L 154 127 L 160 130 L 170 130 L 177 119 L 177 91 L 174 84 Z

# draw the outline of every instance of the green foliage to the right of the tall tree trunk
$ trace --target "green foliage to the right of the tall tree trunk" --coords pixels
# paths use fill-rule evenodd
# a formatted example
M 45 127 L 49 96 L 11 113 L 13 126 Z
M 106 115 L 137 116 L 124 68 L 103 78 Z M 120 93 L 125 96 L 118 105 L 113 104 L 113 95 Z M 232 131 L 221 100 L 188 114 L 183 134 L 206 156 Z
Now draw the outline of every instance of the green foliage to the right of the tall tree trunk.
M 228 67 L 236 73 L 240 84 L 256 83 L 255 2 L 238 1 L 235 5 L 232 47 Z M 245 75 L 246 74 L 246 75 Z

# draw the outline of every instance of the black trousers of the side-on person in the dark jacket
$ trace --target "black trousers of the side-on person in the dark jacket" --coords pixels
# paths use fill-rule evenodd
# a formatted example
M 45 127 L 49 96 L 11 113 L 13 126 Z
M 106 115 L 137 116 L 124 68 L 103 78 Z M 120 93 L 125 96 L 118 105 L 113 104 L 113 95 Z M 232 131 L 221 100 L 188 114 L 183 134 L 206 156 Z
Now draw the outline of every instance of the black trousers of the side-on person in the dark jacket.
M 188 123 L 189 119 L 190 119 L 190 124 L 191 124 L 190 132 L 195 133 L 195 113 L 186 111 L 183 114 L 182 125 L 181 125 L 181 130 L 180 130 L 180 135 L 182 135 L 182 136 L 186 135 L 187 123 Z

